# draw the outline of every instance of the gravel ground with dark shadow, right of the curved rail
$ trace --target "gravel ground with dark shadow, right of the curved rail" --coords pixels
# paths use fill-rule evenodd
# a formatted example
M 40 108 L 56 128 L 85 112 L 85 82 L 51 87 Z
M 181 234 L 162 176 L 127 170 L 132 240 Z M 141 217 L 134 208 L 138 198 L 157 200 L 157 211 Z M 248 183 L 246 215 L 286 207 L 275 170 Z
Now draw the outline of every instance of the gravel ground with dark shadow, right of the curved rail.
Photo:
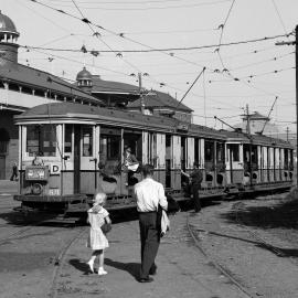
M 297 199 L 296 190 L 223 202 L 204 207 L 191 224 L 210 258 L 256 297 L 298 297 Z

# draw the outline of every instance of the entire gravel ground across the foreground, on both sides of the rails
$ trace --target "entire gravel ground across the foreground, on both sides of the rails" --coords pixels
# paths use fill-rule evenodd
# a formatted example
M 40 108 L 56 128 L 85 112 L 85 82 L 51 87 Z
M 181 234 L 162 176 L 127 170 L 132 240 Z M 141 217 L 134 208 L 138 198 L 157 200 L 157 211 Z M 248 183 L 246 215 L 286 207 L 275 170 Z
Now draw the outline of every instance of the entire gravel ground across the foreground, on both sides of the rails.
M 171 231 L 162 240 L 152 284 L 139 284 L 138 222 L 115 223 L 106 252 L 108 275 L 89 275 L 85 264 L 91 252 L 86 234 L 74 242 L 58 267 L 60 298 L 193 297 L 247 298 L 219 263 L 252 297 L 298 297 L 298 195 L 268 195 L 256 200 L 214 202 L 200 214 L 179 212 L 171 216 Z M 2 196 L 0 236 L 22 228 L 10 202 Z M 187 217 L 206 258 L 187 231 Z M 76 228 L 35 226 L 0 245 L 0 297 L 47 297 L 53 278 L 53 258 L 77 233 Z M 266 245 L 263 243 L 266 242 Z M 279 256 L 279 255 L 283 255 Z

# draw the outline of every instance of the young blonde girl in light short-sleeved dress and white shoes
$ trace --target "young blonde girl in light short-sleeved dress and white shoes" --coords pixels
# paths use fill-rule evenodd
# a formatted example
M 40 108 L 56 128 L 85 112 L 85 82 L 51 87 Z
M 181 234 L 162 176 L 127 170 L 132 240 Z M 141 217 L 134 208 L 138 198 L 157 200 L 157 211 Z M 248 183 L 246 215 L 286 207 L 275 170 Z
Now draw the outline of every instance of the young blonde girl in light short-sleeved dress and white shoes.
M 110 223 L 108 212 L 103 207 L 106 202 L 105 193 L 97 193 L 94 199 L 93 207 L 88 212 L 88 223 L 91 224 L 91 231 L 87 241 L 87 247 L 93 249 L 92 257 L 87 262 L 92 273 L 94 273 L 94 262 L 99 256 L 98 275 L 105 275 L 107 272 L 104 269 L 104 249 L 108 247 L 108 241 L 103 233 L 100 226 L 105 223 Z

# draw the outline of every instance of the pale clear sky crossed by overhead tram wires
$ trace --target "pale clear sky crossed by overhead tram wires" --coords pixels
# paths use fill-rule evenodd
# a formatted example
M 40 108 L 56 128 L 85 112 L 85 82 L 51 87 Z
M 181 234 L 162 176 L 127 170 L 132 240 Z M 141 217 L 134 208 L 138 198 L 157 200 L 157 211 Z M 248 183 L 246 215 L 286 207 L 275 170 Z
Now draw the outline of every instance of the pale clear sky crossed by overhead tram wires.
M 214 116 L 233 126 L 248 107 L 296 134 L 295 46 L 276 43 L 295 40 L 297 0 L 0 0 L 0 10 L 20 32 L 19 63 L 71 82 L 84 65 L 132 85 L 141 73 L 145 88 L 184 97 L 195 124 L 226 128 Z

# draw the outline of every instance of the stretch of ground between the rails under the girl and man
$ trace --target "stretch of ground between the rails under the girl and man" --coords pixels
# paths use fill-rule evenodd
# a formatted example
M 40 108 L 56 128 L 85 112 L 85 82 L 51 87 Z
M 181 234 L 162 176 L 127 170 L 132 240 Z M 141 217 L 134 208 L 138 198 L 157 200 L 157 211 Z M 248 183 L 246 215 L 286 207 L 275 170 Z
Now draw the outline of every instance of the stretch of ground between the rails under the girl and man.
M 156 259 L 158 273 L 152 283 L 138 283 L 139 227 L 138 221 L 130 221 L 114 224 L 108 234 L 110 247 L 105 252 L 106 276 L 88 273 L 86 262 L 91 251 L 85 246 L 87 235 L 72 245 L 61 267 L 57 297 L 247 297 L 195 248 L 185 230 L 187 213 L 178 213 L 170 220 L 171 231 L 161 240 Z

